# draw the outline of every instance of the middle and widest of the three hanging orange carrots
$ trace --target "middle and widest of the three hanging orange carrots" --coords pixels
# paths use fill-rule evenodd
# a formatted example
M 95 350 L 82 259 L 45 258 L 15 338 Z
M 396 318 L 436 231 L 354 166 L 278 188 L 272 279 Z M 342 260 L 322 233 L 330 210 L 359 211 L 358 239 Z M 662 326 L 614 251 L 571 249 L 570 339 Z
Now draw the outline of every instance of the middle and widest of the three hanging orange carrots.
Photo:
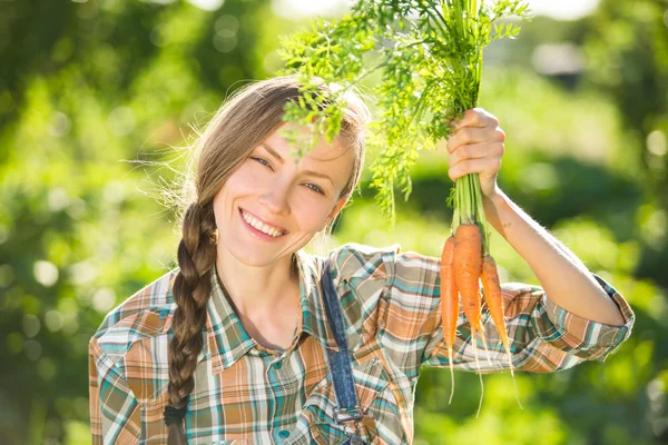
M 454 233 L 454 258 L 453 258 L 454 279 L 459 288 L 462 306 L 469 326 L 471 327 L 471 344 L 475 356 L 480 376 L 480 404 L 478 405 L 478 415 L 482 407 L 482 396 L 484 387 L 482 384 L 482 374 L 480 373 L 480 363 L 478 362 L 478 347 L 475 346 L 475 333 L 480 326 L 480 274 L 482 271 L 482 233 L 477 224 L 461 224 Z M 477 417 L 478 417 L 477 415 Z

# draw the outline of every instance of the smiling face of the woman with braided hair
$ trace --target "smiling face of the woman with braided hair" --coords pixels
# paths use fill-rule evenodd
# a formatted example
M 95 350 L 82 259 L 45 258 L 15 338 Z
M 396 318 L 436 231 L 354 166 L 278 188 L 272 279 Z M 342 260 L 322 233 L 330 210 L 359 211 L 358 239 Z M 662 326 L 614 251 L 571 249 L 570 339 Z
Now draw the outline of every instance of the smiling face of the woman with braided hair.
M 289 258 L 344 204 L 338 196 L 354 150 L 322 139 L 297 164 L 293 150 L 274 131 L 220 188 L 214 198 L 219 255 L 230 254 L 247 266 Z

